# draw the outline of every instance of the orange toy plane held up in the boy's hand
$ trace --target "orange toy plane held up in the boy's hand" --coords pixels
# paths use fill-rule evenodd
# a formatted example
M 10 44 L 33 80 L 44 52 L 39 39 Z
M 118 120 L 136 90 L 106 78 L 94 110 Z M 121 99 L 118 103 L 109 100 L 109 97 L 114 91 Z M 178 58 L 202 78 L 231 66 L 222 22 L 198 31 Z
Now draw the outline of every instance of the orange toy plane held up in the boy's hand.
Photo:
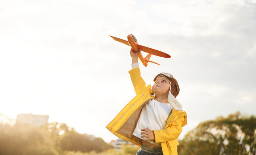
M 154 49 L 146 47 L 146 46 L 139 45 L 138 42 L 137 42 L 137 39 L 132 34 L 129 34 L 127 36 L 128 41 L 117 38 L 117 37 L 113 37 L 113 36 L 110 36 L 110 37 L 112 37 L 112 39 L 114 39 L 114 40 L 116 40 L 120 43 L 124 43 L 125 45 L 131 46 L 131 49 L 133 50 L 134 53 L 140 52 L 140 50 L 149 53 L 145 58 L 142 56 L 141 52 L 140 52 L 140 55 L 139 55 L 140 61 L 143 63 L 143 65 L 145 67 L 147 67 L 148 62 L 152 62 L 152 63 L 155 63 L 155 64 L 159 65 L 158 63 L 149 60 L 150 56 L 152 54 L 155 55 L 155 56 L 161 56 L 161 57 L 164 57 L 164 58 L 171 58 L 171 56 L 169 54 L 163 53 L 159 50 L 154 50 Z

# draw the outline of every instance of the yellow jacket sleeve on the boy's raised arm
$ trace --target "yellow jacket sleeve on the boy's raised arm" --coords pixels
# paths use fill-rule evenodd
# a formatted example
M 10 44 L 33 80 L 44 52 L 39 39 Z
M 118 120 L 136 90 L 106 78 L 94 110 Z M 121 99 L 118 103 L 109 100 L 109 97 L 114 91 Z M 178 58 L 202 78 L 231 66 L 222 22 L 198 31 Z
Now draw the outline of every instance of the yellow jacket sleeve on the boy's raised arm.
M 141 90 L 143 90 L 146 87 L 146 83 L 140 76 L 140 68 L 137 67 L 130 70 L 129 74 L 131 76 L 131 82 L 137 95 L 138 93 L 140 93 Z

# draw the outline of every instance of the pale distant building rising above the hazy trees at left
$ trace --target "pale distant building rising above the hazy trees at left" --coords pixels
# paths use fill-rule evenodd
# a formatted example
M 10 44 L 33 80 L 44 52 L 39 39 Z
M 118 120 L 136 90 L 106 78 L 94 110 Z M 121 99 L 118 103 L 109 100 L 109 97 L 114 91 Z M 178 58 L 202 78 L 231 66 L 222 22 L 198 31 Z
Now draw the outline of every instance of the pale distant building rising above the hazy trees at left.
M 31 124 L 41 127 L 48 123 L 48 115 L 19 114 L 17 115 L 16 124 Z

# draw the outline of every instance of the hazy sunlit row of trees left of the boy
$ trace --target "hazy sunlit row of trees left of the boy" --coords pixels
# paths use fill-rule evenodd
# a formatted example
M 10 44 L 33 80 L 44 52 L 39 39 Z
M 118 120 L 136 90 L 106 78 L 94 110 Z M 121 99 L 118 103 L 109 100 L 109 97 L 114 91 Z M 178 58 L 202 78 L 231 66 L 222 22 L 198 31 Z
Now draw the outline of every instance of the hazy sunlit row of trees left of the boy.
M 0 123 L 0 155 L 62 155 L 64 150 L 103 152 L 109 148 L 113 146 L 101 138 L 90 140 L 65 123 L 41 127 Z

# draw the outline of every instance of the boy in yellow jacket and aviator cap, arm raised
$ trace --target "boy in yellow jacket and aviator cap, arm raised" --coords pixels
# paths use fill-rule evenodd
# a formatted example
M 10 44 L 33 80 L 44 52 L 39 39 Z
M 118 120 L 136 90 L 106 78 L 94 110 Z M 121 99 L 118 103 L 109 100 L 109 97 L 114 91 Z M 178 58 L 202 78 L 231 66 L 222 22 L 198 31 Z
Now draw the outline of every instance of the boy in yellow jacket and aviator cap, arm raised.
M 154 78 L 152 87 L 140 77 L 139 52 L 130 51 L 132 69 L 129 71 L 136 92 L 124 109 L 106 128 L 116 136 L 140 146 L 137 155 L 178 155 L 178 136 L 187 124 L 187 114 L 175 98 L 179 93 L 177 81 L 168 73 Z

